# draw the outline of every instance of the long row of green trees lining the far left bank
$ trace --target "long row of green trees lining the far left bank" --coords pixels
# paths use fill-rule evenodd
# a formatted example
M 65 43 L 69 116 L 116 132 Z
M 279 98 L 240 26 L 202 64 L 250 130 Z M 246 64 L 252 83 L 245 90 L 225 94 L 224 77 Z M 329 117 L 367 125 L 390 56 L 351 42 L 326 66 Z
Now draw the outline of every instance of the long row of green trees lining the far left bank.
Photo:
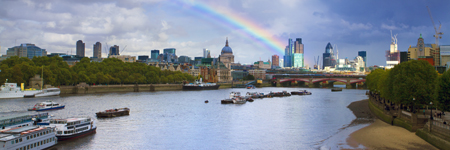
M 106 58 L 102 62 L 90 62 L 84 57 L 74 66 L 59 56 L 27 57 L 13 56 L 0 62 L 0 84 L 29 83 L 36 74 L 43 75 L 44 84 L 52 86 L 88 84 L 159 84 L 193 81 L 195 78 L 180 71 L 161 70 L 144 63 L 123 62 Z

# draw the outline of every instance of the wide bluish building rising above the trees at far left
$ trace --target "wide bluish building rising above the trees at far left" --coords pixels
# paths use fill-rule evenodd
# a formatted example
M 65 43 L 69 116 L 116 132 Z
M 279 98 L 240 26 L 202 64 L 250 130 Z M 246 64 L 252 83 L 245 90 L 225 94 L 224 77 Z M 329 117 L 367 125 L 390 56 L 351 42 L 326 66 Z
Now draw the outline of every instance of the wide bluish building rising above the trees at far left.
M 33 59 L 34 56 L 47 56 L 47 51 L 45 49 L 41 49 L 34 44 L 20 44 L 20 46 L 14 46 L 8 48 L 6 51 L 6 55 L 8 57 L 11 56 L 19 56 L 19 57 L 28 57 L 29 59 Z

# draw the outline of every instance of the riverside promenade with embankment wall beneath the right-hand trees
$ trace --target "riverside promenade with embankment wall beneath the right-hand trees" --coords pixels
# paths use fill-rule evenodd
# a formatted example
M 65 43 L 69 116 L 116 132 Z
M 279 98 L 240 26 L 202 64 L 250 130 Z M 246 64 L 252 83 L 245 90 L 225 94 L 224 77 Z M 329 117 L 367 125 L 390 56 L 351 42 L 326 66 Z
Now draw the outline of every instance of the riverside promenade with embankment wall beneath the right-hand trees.
M 399 107 L 378 94 L 367 92 L 367 95 L 370 110 L 380 120 L 415 132 L 417 136 L 439 149 L 450 150 L 450 112 L 443 113 L 428 107 Z

